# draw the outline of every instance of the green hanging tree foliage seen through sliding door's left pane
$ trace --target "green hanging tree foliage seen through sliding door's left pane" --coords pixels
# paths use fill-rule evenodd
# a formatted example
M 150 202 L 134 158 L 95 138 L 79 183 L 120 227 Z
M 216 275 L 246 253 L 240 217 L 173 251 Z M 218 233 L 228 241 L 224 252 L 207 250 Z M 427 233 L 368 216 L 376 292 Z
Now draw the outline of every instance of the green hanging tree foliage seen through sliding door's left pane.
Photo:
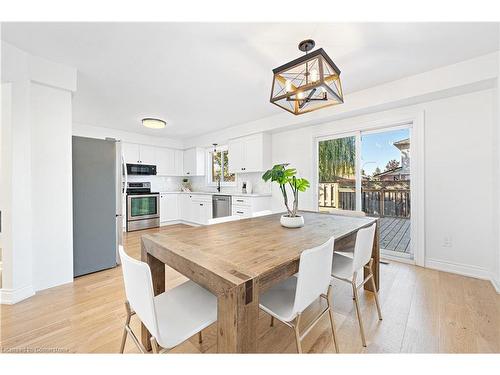
M 319 181 L 336 182 L 354 174 L 356 140 L 354 137 L 319 142 Z

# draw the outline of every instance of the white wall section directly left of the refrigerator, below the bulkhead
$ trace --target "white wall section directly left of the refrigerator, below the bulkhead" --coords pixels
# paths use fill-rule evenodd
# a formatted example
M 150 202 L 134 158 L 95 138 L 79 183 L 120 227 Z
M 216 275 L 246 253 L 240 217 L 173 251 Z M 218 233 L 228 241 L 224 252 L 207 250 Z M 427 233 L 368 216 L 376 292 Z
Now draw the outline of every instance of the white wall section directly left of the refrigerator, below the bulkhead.
M 71 92 L 31 84 L 34 285 L 73 280 Z

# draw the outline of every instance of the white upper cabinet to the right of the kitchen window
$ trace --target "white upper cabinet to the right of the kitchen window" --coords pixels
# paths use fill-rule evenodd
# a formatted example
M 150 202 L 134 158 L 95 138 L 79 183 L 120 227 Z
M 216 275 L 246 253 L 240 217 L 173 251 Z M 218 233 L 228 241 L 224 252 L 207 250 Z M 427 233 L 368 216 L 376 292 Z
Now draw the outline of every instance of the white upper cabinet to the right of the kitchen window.
M 232 139 L 228 147 L 231 173 L 262 172 L 271 167 L 271 138 L 268 134 Z

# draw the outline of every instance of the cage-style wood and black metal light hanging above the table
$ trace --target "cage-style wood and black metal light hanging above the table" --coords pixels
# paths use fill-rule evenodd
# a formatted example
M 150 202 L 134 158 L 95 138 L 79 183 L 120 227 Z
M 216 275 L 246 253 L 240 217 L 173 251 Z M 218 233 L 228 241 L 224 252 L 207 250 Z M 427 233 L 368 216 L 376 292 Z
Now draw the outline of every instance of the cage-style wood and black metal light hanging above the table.
M 273 69 L 271 103 L 294 115 L 344 102 L 340 69 L 323 48 L 308 53 L 314 46 L 314 40 L 303 40 L 304 56 Z

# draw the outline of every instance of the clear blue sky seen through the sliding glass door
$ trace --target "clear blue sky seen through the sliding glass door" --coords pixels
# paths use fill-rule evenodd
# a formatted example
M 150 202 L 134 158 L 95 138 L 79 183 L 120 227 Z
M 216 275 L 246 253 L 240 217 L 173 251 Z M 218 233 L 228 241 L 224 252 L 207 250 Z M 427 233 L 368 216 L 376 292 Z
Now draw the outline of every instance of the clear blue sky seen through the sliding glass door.
M 362 135 L 361 168 L 367 175 L 372 175 L 377 166 L 383 172 L 387 162 L 391 159 L 396 159 L 401 163 L 401 153 L 393 143 L 409 137 L 409 129 Z

